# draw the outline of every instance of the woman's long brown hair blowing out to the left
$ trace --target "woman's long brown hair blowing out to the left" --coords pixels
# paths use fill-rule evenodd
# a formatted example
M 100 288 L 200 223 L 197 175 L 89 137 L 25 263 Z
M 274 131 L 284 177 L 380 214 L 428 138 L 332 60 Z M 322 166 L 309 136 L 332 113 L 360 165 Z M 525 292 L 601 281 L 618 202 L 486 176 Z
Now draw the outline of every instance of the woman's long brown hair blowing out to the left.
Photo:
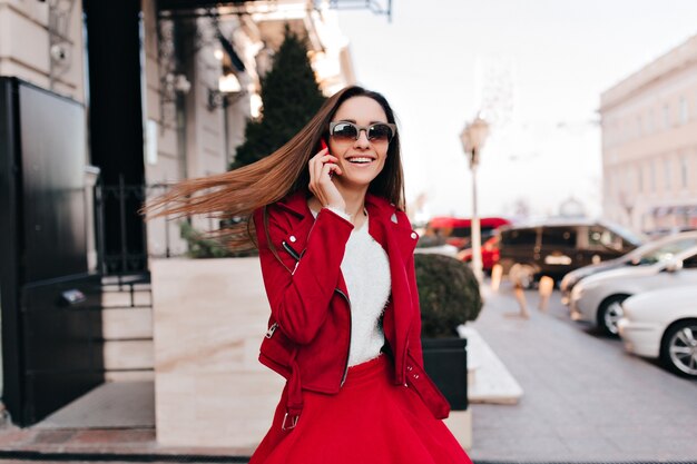
M 396 122 L 387 100 L 377 92 L 351 86 L 328 98 L 317 113 L 287 144 L 272 155 L 242 168 L 175 184 L 151 201 L 143 213 L 148 219 L 161 216 L 206 215 L 218 219 L 244 218 L 213 231 L 224 237 L 230 249 L 255 246 L 251 216 L 255 209 L 278 201 L 297 190 L 308 191 L 310 159 L 320 151 L 320 139 L 328 136 L 328 126 L 338 107 L 350 98 L 369 97 L 385 111 L 387 122 Z M 390 142 L 385 166 L 369 187 L 371 194 L 404 210 L 404 179 L 400 134 Z

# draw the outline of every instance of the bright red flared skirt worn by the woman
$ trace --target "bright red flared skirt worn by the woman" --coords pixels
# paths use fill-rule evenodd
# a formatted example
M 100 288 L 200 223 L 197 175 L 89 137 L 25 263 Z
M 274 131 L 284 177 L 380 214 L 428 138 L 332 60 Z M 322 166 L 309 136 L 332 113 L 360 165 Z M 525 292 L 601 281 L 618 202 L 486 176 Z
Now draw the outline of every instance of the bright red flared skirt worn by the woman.
M 303 391 L 297 425 L 283 431 L 287 385 L 249 464 L 471 464 L 416 392 L 394 385 L 391 359 L 348 368 L 336 395 Z

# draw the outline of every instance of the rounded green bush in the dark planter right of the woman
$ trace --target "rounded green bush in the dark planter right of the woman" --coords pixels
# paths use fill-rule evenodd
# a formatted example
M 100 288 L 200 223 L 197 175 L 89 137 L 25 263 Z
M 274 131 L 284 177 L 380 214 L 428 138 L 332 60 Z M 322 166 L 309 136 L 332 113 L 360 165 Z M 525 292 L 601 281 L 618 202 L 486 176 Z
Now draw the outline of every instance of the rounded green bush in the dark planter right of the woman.
M 436 254 L 414 255 L 422 336 L 458 336 L 457 327 L 474 320 L 482 308 L 479 284 L 469 266 Z

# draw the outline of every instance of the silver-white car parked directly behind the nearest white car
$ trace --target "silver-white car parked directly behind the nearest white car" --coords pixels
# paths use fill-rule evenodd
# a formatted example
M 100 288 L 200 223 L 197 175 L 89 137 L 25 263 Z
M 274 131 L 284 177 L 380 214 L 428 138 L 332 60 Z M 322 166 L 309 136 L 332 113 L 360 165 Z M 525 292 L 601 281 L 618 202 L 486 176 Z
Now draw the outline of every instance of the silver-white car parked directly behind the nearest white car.
M 625 299 L 644 292 L 687 285 L 697 286 L 697 247 L 666 256 L 654 265 L 586 277 L 571 290 L 571 318 L 597 324 L 608 335 L 617 335 Z

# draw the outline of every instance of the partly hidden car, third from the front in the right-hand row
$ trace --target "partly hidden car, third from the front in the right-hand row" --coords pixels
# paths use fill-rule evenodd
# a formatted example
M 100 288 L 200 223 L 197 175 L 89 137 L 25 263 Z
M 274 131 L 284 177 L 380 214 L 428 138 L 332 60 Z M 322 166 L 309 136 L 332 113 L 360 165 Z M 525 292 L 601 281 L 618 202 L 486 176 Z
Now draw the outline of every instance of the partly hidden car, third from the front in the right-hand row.
M 592 276 L 605 270 L 617 269 L 624 266 L 647 266 L 656 264 L 659 260 L 669 258 L 676 253 L 694 246 L 697 246 L 697 230 L 673 234 L 641 245 L 639 248 L 636 248 L 619 258 L 591 264 L 572 270 L 563 276 L 561 284 L 559 285 L 559 288 L 561 289 L 561 303 L 565 305 L 570 303 L 573 286 L 585 277 Z

